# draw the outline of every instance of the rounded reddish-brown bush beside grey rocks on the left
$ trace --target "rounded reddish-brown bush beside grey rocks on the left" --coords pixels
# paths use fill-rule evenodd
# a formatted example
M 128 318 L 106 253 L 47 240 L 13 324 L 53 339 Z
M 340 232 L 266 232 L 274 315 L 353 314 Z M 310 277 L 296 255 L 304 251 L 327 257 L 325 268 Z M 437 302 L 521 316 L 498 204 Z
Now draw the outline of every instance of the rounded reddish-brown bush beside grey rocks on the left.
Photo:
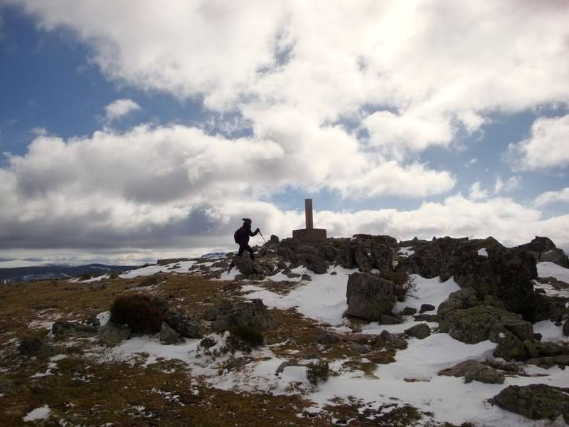
M 129 325 L 135 333 L 159 332 L 165 318 L 164 312 L 151 303 L 148 295 L 122 295 L 111 305 L 112 322 Z

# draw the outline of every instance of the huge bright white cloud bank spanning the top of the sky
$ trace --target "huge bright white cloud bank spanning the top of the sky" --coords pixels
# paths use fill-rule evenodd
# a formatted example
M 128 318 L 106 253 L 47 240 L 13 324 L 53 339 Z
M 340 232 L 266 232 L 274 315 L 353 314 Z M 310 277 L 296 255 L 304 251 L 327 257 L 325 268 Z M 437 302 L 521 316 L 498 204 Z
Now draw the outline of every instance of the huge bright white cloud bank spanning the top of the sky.
M 75 31 L 112 80 L 218 111 L 258 103 L 252 122 L 277 105 L 319 125 L 358 116 L 395 159 L 494 110 L 569 101 L 563 1 L 11 2 Z

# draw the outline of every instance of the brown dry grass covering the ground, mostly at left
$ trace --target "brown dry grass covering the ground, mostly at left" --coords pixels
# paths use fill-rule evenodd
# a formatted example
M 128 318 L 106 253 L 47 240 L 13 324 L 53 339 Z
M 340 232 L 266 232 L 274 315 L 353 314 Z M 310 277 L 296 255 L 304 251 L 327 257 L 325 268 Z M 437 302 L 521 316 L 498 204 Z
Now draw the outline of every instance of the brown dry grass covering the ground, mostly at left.
M 166 278 L 148 292 L 163 297 L 170 305 L 184 306 L 198 318 L 217 300 L 240 299 L 238 283 L 176 273 L 167 274 Z M 147 367 L 142 363 L 145 358 L 134 363 L 102 363 L 84 354 L 92 345 L 88 339 L 74 339 L 73 344 L 53 342 L 67 358 L 57 362 L 53 375 L 31 378 L 46 371 L 49 361 L 22 357 L 16 351 L 18 339 L 30 335 L 45 337 L 50 324 L 58 318 L 83 321 L 107 311 L 116 297 L 137 292 L 137 285 L 144 279 L 107 280 L 107 288 L 102 290 L 91 290 L 90 283 L 63 280 L 0 287 L 0 384 L 14 384 L 13 391 L 0 397 L 1 426 L 21 425 L 26 413 L 44 404 L 52 409 L 46 425 L 56 425 L 61 420 L 68 425 L 85 426 L 329 426 L 334 414 L 353 412 L 345 406 L 334 414 L 324 411 L 317 416 L 305 413 L 305 417 L 299 417 L 310 405 L 302 396 L 211 389 L 188 374 L 187 366 L 176 360 L 161 360 Z M 320 347 L 317 339 L 323 329 L 317 322 L 295 310 L 270 311 L 278 327 L 263 335 L 265 346 L 270 346 L 277 357 L 291 359 L 316 354 L 328 361 L 345 359 L 346 367 L 368 375 L 373 374 L 375 363 L 393 361 L 395 350 L 374 345 L 371 353 L 363 355 L 352 352 L 346 342 Z M 362 357 L 372 362 L 358 363 Z M 176 395 L 179 397 L 174 399 Z M 405 413 L 398 419 L 410 420 Z

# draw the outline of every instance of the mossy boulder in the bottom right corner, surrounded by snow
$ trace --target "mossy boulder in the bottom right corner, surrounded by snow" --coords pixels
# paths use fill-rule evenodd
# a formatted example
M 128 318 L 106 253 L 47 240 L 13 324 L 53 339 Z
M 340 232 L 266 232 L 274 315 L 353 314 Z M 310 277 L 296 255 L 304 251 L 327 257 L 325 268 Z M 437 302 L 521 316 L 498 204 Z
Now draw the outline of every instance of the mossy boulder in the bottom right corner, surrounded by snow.
M 519 413 L 531 420 L 554 421 L 560 415 L 569 423 L 569 389 L 531 384 L 508 386 L 496 394 L 491 402 L 506 411 Z

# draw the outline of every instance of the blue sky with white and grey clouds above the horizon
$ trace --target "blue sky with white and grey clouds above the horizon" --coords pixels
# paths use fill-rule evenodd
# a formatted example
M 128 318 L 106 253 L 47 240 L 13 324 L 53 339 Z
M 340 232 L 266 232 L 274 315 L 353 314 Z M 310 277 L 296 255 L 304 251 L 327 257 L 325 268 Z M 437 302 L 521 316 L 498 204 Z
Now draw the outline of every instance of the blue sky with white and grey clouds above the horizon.
M 314 226 L 569 249 L 569 3 L 0 0 L 0 258 Z M 259 237 L 252 243 L 262 243 Z

